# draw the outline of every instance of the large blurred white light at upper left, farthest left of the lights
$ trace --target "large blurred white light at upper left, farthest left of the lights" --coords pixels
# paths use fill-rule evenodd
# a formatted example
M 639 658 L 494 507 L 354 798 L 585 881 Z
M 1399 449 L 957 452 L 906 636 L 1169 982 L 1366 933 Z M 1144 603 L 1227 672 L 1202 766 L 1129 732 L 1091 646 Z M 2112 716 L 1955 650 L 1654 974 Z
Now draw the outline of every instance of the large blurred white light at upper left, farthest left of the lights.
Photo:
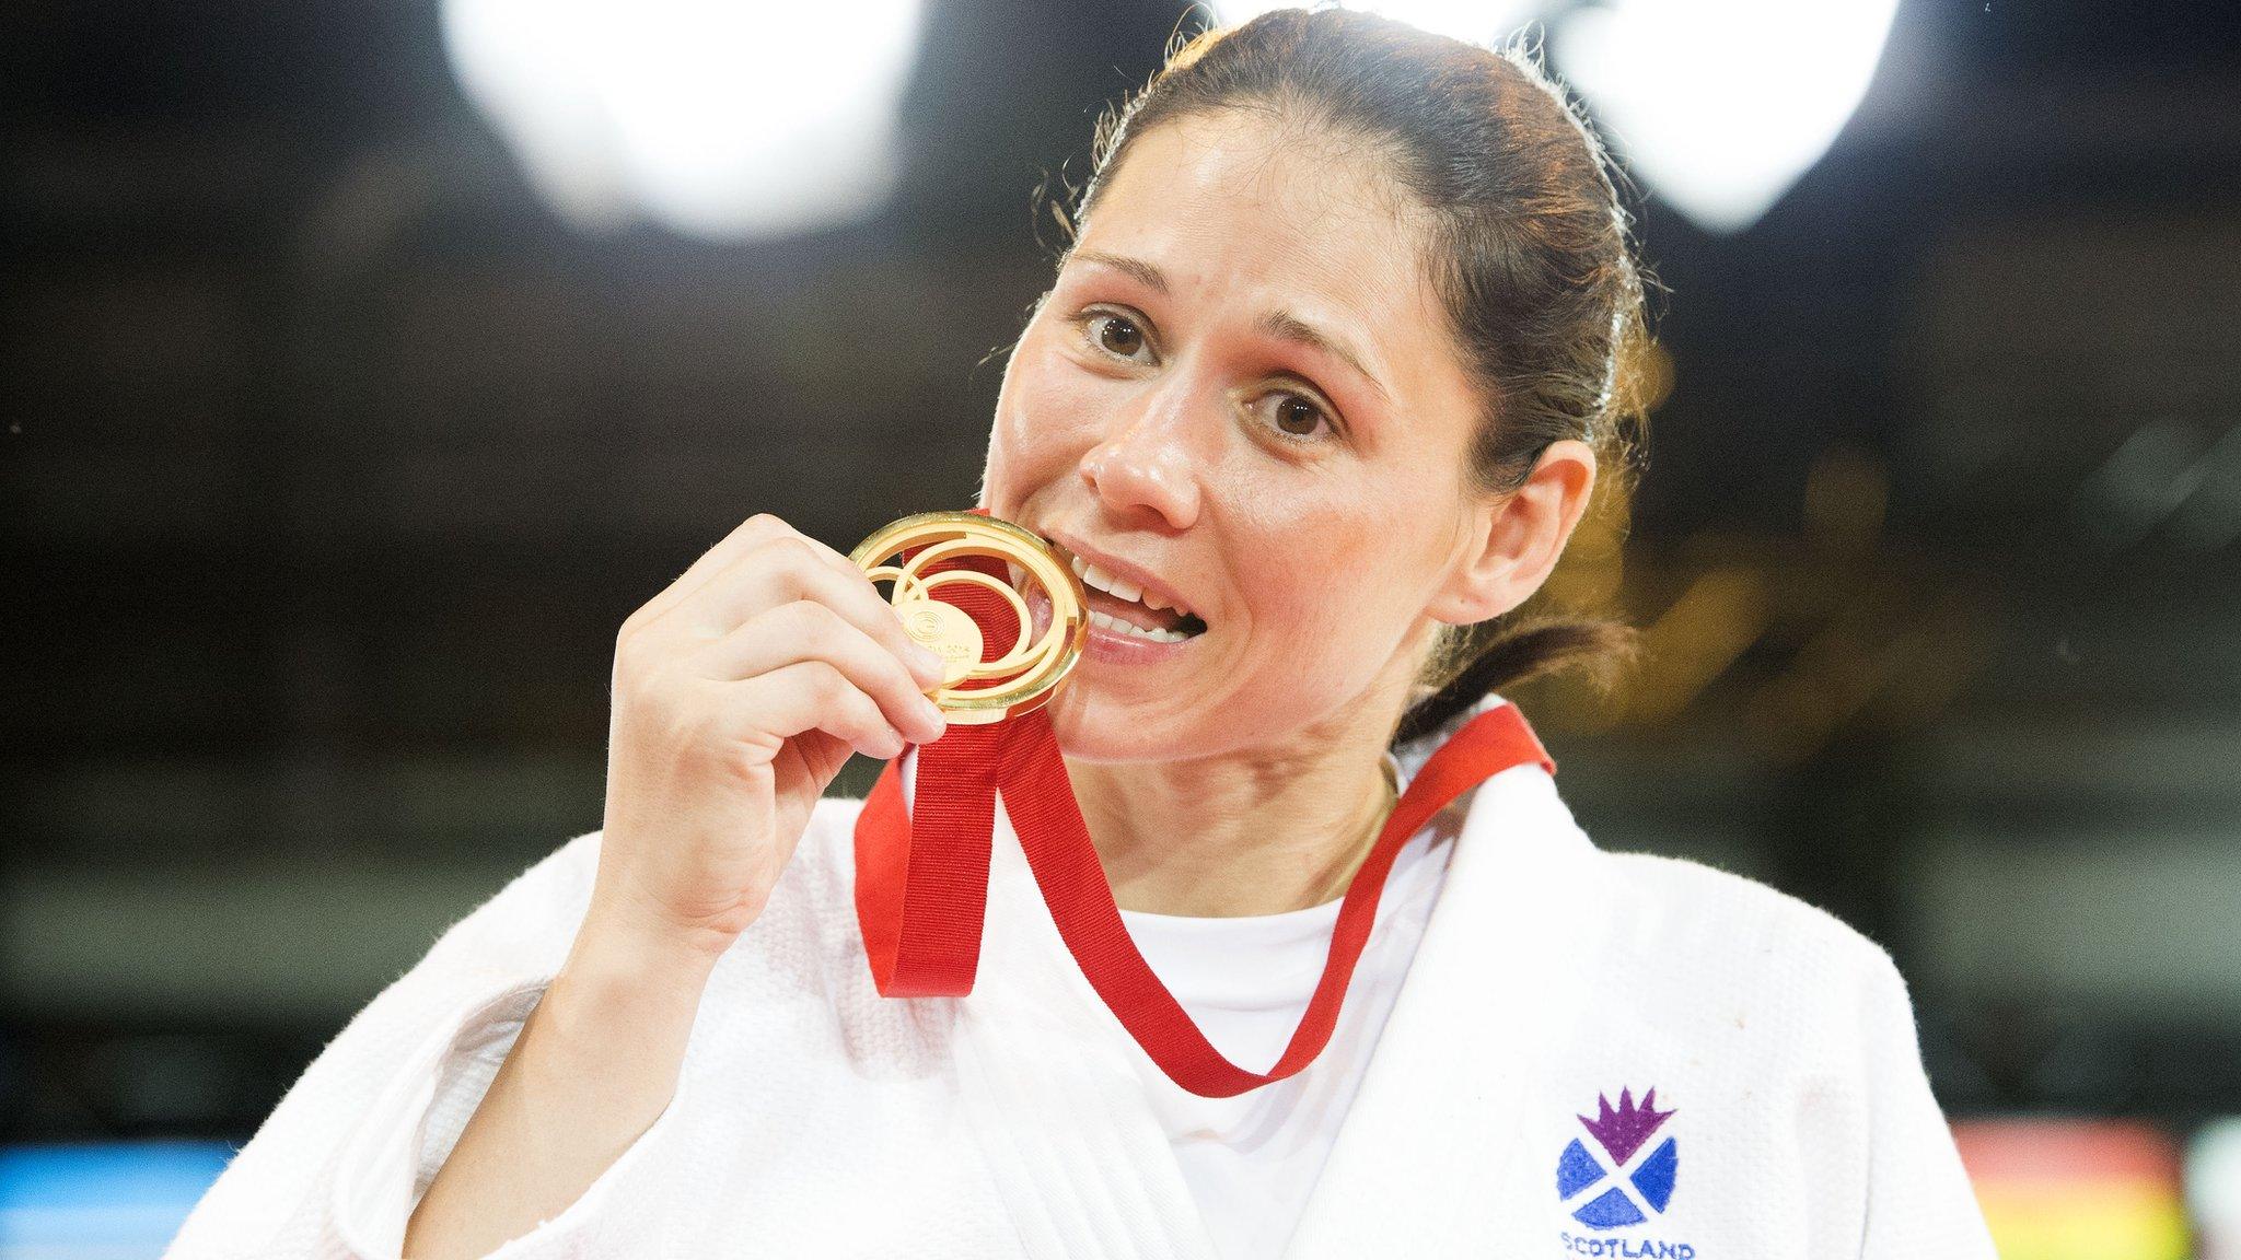
M 585 229 L 784 235 L 887 204 L 921 0 L 444 0 L 444 47 Z

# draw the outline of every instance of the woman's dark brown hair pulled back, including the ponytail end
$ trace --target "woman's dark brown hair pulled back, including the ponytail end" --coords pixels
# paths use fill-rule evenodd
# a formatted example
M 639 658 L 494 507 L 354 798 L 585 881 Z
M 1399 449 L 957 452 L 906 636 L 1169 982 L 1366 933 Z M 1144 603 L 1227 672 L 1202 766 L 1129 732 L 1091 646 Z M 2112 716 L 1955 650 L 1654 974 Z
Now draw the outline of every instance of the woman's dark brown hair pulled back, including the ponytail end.
M 1472 47 L 1345 9 L 1206 31 L 1098 121 L 1067 226 L 1087 220 L 1136 139 L 1221 110 L 1363 139 L 1416 202 L 1430 224 L 1425 274 L 1486 399 L 1477 489 L 1515 491 L 1551 442 L 1573 437 L 1596 446 L 1605 493 L 1625 493 L 1640 466 L 1647 276 L 1602 143 L 1526 47 Z M 1602 619 L 1510 612 L 1443 628 L 1428 695 L 1394 740 L 1533 675 L 1587 666 L 1609 677 L 1634 648 L 1631 628 Z

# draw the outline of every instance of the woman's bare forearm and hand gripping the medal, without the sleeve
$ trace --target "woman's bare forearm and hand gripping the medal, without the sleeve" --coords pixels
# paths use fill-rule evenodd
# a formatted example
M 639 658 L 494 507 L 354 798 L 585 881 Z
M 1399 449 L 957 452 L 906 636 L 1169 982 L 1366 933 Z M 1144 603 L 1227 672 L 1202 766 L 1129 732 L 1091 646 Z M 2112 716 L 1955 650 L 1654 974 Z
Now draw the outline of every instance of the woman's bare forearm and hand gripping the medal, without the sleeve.
M 677 1090 L 715 960 L 793 856 L 849 751 L 948 726 L 872 578 L 755 516 L 623 621 L 592 908 L 412 1213 L 406 1253 L 482 1256 L 560 1215 Z

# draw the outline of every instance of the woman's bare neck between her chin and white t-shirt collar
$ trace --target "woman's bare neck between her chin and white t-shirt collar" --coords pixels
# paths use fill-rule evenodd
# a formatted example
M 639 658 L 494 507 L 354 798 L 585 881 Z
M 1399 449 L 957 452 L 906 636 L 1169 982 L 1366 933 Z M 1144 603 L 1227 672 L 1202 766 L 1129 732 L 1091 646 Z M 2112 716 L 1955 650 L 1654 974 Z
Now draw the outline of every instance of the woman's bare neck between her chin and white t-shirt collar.
M 1367 697 L 1365 697 L 1367 700 Z M 1385 704 L 1349 704 L 1282 744 L 1170 762 L 1067 762 L 1123 910 L 1280 915 L 1340 897 L 1389 796 Z

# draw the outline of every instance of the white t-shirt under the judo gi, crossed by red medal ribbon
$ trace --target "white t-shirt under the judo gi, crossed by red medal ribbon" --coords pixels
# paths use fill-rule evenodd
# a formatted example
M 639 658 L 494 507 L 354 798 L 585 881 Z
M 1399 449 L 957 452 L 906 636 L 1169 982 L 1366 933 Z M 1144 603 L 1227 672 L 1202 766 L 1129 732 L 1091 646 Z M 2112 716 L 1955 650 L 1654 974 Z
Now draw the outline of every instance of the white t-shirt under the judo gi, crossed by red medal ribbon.
M 1405 787 L 1407 773 L 1398 762 L 1394 769 Z M 1295 1076 L 1235 1099 L 1201 1099 L 1129 1043 L 1152 1110 L 1226 1260 L 1275 1258 L 1291 1240 L 1416 955 L 1452 852 L 1452 830 L 1428 825 L 1394 859 L 1338 1029 Z M 1340 904 L 1233 919 L 1120 910 L 1120 921 L 1206 1040 L 1230 1063 L 1266 1072 L 1322 980 Z

